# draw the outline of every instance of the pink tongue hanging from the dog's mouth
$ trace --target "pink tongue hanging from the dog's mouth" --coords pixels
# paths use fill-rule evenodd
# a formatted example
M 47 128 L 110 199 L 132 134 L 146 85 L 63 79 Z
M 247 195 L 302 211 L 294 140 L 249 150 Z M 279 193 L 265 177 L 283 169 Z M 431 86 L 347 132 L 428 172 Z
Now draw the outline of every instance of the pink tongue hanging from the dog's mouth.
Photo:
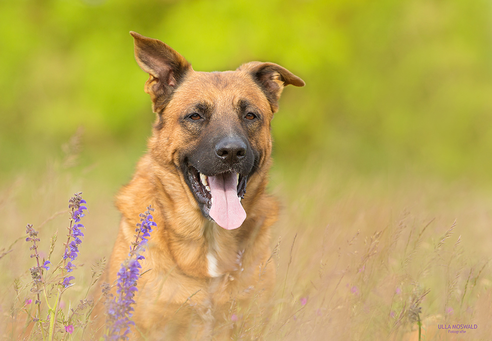
M 246 212 L 238 197 L 237 173 L 209 176 L 212 207 L 210 217 L 225 229 L 238 228 L 246 219 Z

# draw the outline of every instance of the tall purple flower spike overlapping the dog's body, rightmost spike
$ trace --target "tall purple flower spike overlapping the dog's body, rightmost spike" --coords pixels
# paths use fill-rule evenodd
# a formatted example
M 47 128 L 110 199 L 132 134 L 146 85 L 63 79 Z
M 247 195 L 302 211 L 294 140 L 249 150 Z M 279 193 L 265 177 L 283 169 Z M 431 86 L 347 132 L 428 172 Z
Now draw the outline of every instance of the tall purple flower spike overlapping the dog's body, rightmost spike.
M 152 227 L 157 226 L 153 221 L 151 206 L 147 207 L 145 214 L 140 214 L 140 223 L 137 224 L 135 241 L 131 243 L 128 258 L 122 263 L 118 271 L 116 284 L 116 296 L 106 301 L 108 333 L 105 340 L 129 340 L 130 326 L 135 325 L 130 318 L 133 316 L 135 292 L 137 280 L 140 278 L 142 266 L 139 261 L 145 259 L 140 253 L 145 251 Z M 104 294 L 108 295 L 109 287 L 103 289 Z M 111 294 L 108 295 L 111 297 Z

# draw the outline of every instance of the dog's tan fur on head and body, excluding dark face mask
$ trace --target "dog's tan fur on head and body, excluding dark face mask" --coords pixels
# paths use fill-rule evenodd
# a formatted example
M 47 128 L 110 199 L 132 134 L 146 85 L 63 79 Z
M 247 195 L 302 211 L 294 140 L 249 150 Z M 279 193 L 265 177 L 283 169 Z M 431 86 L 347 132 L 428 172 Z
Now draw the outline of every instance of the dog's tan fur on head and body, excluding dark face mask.
M 228 340 L 233 333 L 240 335 L 247 326 L 257 323 L 254 321 L 268 317 L 262 313 L 268 309 L 275 281 L 275 266 L 269 260 L 270 227 L 278 212 L 277 202 L 265 193 L 271 165 L 270 120 L 283 86 L 293 82 L 302 86 L 304 82 L 272 63 L 253 62 L 221 73 L 196 72 L 167 45 L 137 33 L 132 35 L 137 61 L 150 74 L 145 90 L 151 95 L 157 113 L 155 127 L 161 124 L 162 128 L 154 129 L 149 151 L 139 161 L 133 179 L 117 196 L 122 221 L 107 280 L 115 281 L 135 239 L 139 214 L 152 205 L 157 227 L 142 262 L 142 272 L 150 271 L 138 282 L 133 316 L 137 334 L 148 340 Z M 152 46 L 148 47 L 149 44 Z M 142 50 L 151 48 L 164 51 L 159 54 L 171 57 L 163 59 L 175 58 L 181 66 L 171 71 L 166 69 L 171 66 L 165 62 L 161 71 L 149 67 L 142 60 L 150 57 L 142 57 L 147 53 Z M 251 75 L 265 65 L 285 70 L 293 78 L 289 81 L 283 76 L 282 81 L 281 73 L 274 70 L 265 81 L 269 85 L 262 89 L 259 84 L 263 81 L 255 81 Z M 181 80 L 179 67 L 186 70 Z M 156 84 L 159 86 L 162 79 L 166 83 L 159 89 Z M 169 96 L 169 91 L 170 101 L 159 102 L 159 96 Z M 267 98 L 268 91 L 273 99 Z M 198 141 L 183 129 L 179 117 L 196 98 L 214 106 L 217 132 L 229 129 L 235 119 L 231 118 L 230 107 L 242 98 L 254 102 L 265 118 L 251 134 L 254 139 L 249 139 L 253 148 L 261 150 L 261 158 L 258 171 L 247 180 L 246 195 L 241 201 L 247 216 L 237 229 L 226 230 L 203 216 L 180 170 L 181 155 L 196 147 Z M 216 259 L 215 271 L 219 276 L 209 274 L 212 264 L 207 255 Z M 237 321 L 231 319 L 232 314 L 236 314 Z M 243 337 L 257 337 L 260 329 Z

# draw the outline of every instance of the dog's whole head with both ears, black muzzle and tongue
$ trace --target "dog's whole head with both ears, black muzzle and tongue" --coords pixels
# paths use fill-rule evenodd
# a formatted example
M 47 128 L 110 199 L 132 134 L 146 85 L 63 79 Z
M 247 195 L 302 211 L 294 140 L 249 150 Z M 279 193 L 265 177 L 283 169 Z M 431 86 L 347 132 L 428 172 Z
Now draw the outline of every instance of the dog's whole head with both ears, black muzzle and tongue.
M 131 34 L 158 114 L 153 157 L 175 166 L 206 218 L 226 229 L 240 227 L 248 179 L 270 160 L 270 122 L 280 93 L 304 82 L 273 63 L 196 72 L 161 41 Z

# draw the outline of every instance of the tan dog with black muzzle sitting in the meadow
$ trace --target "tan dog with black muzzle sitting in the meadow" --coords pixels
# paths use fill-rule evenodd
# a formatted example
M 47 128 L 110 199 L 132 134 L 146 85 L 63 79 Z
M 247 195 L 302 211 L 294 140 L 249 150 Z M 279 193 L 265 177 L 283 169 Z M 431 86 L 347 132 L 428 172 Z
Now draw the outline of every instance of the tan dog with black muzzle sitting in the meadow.
M 138 337 L 261 338 L 254 324 L 268 318 L 276 272 L 270 228 L 278 205 L 266 193 L 271 120 L 284 86 L 305 83 L 268 62 L 197 72 L 160 40 L 130 34 L 156 120 L 148 152 L 117 195 L 122 220 L 109 283 L 151 204 L 157 227 L 135 295 Z

